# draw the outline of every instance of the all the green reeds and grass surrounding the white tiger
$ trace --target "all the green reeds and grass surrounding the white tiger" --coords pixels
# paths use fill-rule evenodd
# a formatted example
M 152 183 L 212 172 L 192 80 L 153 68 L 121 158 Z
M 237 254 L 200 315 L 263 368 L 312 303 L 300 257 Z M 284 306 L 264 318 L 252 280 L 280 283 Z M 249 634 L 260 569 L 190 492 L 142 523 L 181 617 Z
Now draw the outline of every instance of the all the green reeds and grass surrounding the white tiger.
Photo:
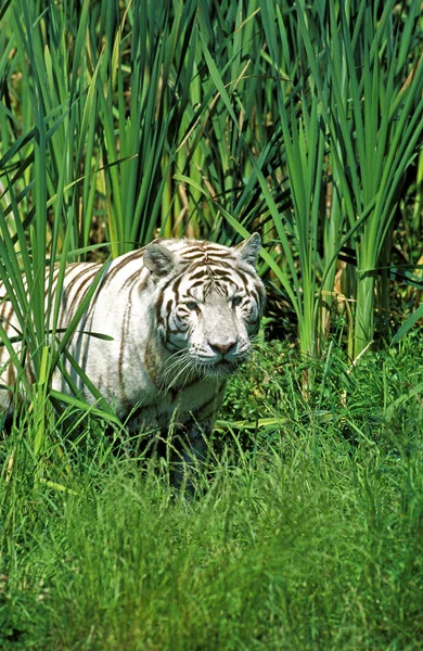
M 0 22 L 0 279 L 36 374 L 1 444 L 0 644 L 422 649 L 420 1 L 4 0 Z M 55 341 L 44 269 L 253 230 L 267 341 L 187 502 L 166 459 L 112 454 L 107 405 L 54 411 L 77 323 Z

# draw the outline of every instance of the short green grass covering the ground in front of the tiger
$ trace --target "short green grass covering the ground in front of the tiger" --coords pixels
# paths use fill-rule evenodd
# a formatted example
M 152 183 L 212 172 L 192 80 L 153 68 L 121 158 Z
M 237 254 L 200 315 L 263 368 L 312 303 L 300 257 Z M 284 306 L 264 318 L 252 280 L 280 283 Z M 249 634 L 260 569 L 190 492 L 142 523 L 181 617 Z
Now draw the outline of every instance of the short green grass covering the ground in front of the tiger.
M 238 390 L 252 392 L 282 347 L 261 346 Z M 268 400 L 284 424 L 236 431 L 229 405 L 233 436 L 219 434 L 227 445 L 192 500 L 175 494 L 163 461 L 140 468 L 101 439 L 95 470 L 89 438 L 64 445 L 62 465 L 51 455 L 41 478 L 61 468 L 64 484 L 67 468 L 68 489 L 57 490 L 37 480 L 12 433 L 2 454 L 2 648 L 420 649 L 421 398 L 389 411 L 421 382 L 411 349 L 369 355 L 351 372 L 332 350 L 321 369 L 332 391 L 308 403 L 296 388 L 295 401 L 274 399 L 300 384 L 300 369 L 286 365 L 255 414 L 259 422 Z M 10 450 L 22 472 L 8 475 Z

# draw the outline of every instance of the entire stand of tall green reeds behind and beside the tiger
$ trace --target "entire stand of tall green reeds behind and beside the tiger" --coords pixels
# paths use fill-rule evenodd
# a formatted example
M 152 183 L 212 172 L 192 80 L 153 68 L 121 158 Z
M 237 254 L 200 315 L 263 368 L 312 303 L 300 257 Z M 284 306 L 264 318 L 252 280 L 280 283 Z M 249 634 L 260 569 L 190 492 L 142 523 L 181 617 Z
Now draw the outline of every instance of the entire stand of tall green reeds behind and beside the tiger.
M 1 22 L 0 277 L 23 383 L 30 358 L 48 396 L 60 359 L 44 269 L 60 260 L 61 284 L 66 261 L 156 234 L 259 229 L 302 350 L 323 348 L 334 297 L 351 359 L 369 345 L 423 127 L 416 0 L 13 0 Z

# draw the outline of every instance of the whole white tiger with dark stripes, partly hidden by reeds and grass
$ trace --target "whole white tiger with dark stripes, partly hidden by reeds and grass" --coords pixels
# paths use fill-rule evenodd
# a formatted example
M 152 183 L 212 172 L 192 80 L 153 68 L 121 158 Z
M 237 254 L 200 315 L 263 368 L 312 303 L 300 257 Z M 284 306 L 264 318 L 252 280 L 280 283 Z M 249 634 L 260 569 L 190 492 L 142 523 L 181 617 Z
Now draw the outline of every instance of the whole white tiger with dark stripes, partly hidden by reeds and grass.
M 203 454 L 226 380 L 246 359 L 259 326 L 265 289 L 255 265 L 260 244 L 258 233 L 234 247 L 155 240 L 110 263 L 67 349 L 119 419 L 129 418 L 129 431 L 141 424 L 164 430 L 172 422 L 185 441 L 187 459 Z M 95 263 L 69 265 L 60 329 L 69 323 L 100 269 Z M 0 304 L 0 319 L 7 331 L 18 330 L 8 299 Z M 10 409 L 15 372 L 4 346 L 1 367 L 0 407 Z M 92 404 L 88 386 L 68 362 L 65 368 Z M 59 371 L 53 388 L 70 393 Z

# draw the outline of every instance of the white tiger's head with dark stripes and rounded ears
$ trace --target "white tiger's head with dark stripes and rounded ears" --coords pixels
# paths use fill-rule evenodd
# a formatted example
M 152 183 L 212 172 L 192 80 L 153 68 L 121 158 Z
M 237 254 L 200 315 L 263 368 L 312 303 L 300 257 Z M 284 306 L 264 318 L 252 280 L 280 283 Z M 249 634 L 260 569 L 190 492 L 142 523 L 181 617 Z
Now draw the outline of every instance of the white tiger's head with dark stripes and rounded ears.
M 254 233 L 234 247 L 164 240 L 145 248 L 156 332 L 172 376 L 225 376 L 246 359 L 265 303 L 255 269 L 260 245 Z

